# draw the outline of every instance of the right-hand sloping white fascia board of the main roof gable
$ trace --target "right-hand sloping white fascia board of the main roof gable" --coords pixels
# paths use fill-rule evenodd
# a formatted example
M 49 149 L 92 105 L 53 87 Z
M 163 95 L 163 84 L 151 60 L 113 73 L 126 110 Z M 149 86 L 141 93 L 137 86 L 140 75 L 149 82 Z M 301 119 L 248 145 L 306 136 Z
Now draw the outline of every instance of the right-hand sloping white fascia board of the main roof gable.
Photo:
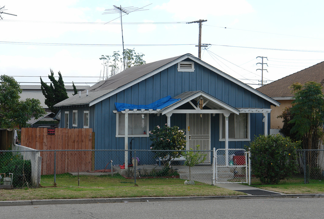
M 230 80 L 231 82 L 233 82 L 233 83 L 235 83 L 235 84 L 237 84 L 237 85 L 239 85 L 239 86 L 244 87 L 245 89 L 251 91 L 251 92 L 254 93 L 255 95 L 257 95 L 257 96 L 259 96 L 259 97 L 261 97 L 261 98 L 266 99 L 266 100 L 269 101 L 270 103 L 272 103 L 272 104 L 274 104 L 274 105 L 276 105 L 276 106 L 279 106 L 279 105 L 280 105 L 280 103 L 277 102 L 277 101 L 275 101 L 274 99 L 268 97 L 267 95 L 262 94 L 261 92 L 259 92 L 259 91 L 257 91 L 256 89 L 254 89 L 254 88 L 248 86 L 247 84 L 244 84 L 243 82 L 241 82 L 241 81 L 235 79 L 234 77 L 225 74 L 224 72 L 218 70 L 217 68 L 211 66 L 210 64 L 207 64 L 207 63 L 205 63 L 204 61 L 202 61 L 202 60 L 200 60 L 200 59 L 198 59 L 198 58 L 196 58 L 196 57 L 194 57 L 194 56 L 189 56 L 188 58 L 190 58 L 191 60 L 194 60 L 195 62 L 197 62 L 197 63 L 199 63 L 199 64 L 201 64 L 201 65 L 203 65 L 204 67 L 208 68 L 208 69 L 211 70 L 211 71 L 217 72 L 218 74 L 220 74 L 221 76 L 223 76 L 223 77 L 225 77 L 226 79 Z

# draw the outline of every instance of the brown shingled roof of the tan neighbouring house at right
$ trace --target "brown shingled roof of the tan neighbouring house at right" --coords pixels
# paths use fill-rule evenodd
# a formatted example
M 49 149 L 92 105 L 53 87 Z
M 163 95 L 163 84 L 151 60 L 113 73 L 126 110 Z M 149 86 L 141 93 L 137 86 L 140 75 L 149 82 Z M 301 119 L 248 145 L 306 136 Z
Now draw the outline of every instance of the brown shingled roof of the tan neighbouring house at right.
M 283 77 L 270 84 L 257 88 L 261 93 L 278 99 L 279 97 L 293 97 L 289 86 L 295 82 L 305 84 L 308 81 L 323 83 L 324 79 L 324 62 L 320 62 L 311 67 L 305 68 L 299 72 Z

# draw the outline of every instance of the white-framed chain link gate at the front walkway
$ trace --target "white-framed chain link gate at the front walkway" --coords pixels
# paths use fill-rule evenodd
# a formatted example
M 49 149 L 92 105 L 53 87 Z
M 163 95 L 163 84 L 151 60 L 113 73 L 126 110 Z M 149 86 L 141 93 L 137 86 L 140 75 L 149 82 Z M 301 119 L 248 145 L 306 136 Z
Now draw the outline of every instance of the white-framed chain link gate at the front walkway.
M 249 183 L 250 185 L 250 152 L 244 149 L 217 149 L 214 154 L 216 184 Z

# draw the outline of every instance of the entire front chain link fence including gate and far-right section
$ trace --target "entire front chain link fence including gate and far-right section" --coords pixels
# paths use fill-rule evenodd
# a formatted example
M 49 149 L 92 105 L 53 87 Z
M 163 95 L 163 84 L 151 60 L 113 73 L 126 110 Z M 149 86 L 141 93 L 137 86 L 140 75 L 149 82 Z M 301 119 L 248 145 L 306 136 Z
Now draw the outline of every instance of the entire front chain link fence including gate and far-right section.
M 213 184 L 215 182 L 213 176 L 219 180 L 216 183 L 224 180 L 226 183 L 246 181 L 247 156 L 242 150 L 229 149 L 227 163 L 226 150 L 219 151 L 219 154 L 215 155 L 216 173 L 213 172 L 213 151 L 194 151 L 207 154 L 210 156 L 207 160 L 211 162 L 193 167 L 185 166 L 186 152 L 188 151 L 27 149 L 0 151 L 2 178 L 0 185 L 12 179 L 9 183 L 16 188 L 53 184 L 68 187 L 78 185 L 78 179 L 81 178 L 83 181 L 89 181 L 87 186 L 100 186 L 98 179 L 108 180 L 111 177 L 122 177 L 134 183 L 140 179 L 179 178 Z M 305 183 L 309 180 L 324 180 L 324 150 L 297 150 L 297 154 L 297 177 L 304 178 Z

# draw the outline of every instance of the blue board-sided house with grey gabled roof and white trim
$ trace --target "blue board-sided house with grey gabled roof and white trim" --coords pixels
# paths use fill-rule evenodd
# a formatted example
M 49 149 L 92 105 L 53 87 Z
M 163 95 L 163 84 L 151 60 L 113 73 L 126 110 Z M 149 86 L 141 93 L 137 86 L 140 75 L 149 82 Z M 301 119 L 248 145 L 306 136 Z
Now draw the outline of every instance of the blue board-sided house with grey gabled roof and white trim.
M 184 54 L 126 69 L 55 107 L 62 128 L 93 129 L 95 149 L 127 150 L 131 139 L 133 149 L 149 149 L 148 132 L 168 124 L 186 130 L 187 150 L 197 144 L 212 150 L 244 148 L 255 135 L 267 135 L 271 105 L 279 103 Z M 96 168 L 103 159 L 96 156 Z

